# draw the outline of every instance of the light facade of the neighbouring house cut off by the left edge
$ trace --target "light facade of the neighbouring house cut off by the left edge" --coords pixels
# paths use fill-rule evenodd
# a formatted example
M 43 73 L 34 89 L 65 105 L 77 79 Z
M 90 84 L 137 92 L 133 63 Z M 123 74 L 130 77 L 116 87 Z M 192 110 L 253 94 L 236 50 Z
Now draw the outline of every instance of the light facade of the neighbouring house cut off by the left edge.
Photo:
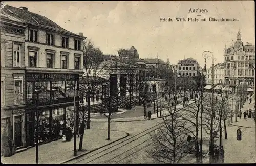
M 25 140 L 25 30 L 24 22 L 1 9 L 1 135 L 16 147 Z

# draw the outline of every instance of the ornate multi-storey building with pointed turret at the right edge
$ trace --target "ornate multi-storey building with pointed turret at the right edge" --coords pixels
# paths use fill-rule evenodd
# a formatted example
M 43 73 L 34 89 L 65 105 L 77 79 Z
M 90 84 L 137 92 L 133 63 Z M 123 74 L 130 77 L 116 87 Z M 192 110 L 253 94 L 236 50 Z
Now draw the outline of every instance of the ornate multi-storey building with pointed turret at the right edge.
M 233 86 L 244 82 L 248 87 L 253 88 L 254 72 L 255 46 L 250 43 L 244 45 L 239 30 L 234 45 L 224 49 L 224 83 Z

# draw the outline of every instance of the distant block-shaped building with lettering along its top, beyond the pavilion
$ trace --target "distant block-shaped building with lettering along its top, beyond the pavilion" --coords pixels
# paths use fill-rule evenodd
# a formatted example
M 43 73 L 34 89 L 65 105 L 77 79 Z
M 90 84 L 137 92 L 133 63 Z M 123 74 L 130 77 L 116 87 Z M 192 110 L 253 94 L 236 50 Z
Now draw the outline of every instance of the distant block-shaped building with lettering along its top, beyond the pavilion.
M 179 75 L 184 78 L 194 78 L 199 74 L 199 63 L 193 58 L 179 60 Z

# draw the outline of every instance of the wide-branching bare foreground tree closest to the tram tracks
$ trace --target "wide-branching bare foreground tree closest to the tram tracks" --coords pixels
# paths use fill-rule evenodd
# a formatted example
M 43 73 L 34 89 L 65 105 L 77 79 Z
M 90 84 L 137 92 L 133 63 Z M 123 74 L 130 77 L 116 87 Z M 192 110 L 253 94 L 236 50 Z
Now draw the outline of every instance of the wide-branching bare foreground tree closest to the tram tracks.
M 167 80 L 167 84 L 173 87 L 175 82 L 171 78 L 174 75 L 170 73 L 168 76 L 170 79 Z M 176 110 L 176 104 L 174 108 L 171 106 L 170 94 L 175 90 L 176 88 L 168 88 L 166 109 L 169 115 L 164 114 L 161 126 L 151 135 L 153 148 L 147 151 L 150 156 L 162 163 L 179 163 L 188 154 L 186 136 L 190 133 L 191 127 L 181 118 L 184 113 Z

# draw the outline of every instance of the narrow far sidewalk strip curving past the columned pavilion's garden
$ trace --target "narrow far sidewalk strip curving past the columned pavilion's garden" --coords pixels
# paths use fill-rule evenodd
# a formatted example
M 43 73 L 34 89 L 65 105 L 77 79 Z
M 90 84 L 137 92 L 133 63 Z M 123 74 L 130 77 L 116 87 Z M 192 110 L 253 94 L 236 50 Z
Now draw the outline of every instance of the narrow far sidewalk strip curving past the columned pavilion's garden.
M 194 101 L 193 100 L 190 100 L 188 102 L 188 104 L 192 104 Z M 176 106 L 177 109 L 181 109 L 183 108 L 183 103 L 182 104 L 178 104 Z M 162 110 L 162 116 L 163 115 L 168 115 L 169 112 L 168 110 L 164 109 Z M 157 113 L 153 113 L 152 112 L 152 115 L 151 115 L 151 119 L 154 120 L 156 118 L 160 118 L 160 109 L 158 111 L 158 117 L 157 117 Z M 127 118 L 115 118 L 115 119 L 112 119 L 111 122 L 127 122 L 127 121 L 144 121 L 144 116 L 140 116 L 140 117 L 127 117 Z M 101 119 L 101 118 L 98 118 L 98 119 L 93 119 L 91 120 L 91 122 L 108 122 L 108 120 L 106 119 Z

